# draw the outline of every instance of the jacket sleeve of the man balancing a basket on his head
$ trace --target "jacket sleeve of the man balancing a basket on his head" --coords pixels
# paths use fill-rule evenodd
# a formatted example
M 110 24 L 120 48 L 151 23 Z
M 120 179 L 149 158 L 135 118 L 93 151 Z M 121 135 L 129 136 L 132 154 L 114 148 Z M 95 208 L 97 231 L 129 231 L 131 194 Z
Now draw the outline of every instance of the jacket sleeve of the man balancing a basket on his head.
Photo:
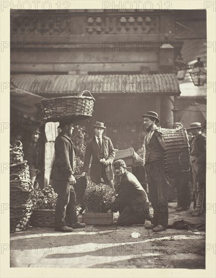
M 60 161 L 60 172 L 63 174 L 66 174 L 67 176 L 70 176 L 71 174 L 74 174 L 74 171 L 71 168 L 70 165 L 70 159 L 69 159 L 69 143 L 65 140 L 58 140 L 56 147 L 58 148 L 59 152 L 59 161 Z

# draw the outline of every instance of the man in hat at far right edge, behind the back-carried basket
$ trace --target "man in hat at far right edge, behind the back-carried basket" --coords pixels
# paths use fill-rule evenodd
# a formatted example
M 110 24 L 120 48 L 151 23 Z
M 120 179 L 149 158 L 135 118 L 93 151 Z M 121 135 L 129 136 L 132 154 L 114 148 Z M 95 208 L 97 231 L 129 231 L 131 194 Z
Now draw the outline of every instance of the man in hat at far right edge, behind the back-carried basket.
M 190 163 L 192 169 L 193 191 L 196 201 L 192 216 L 199 216 L 204 212 L 205 178 L 206 178 L 206 136 L 201 132 L 201 123 L 194 122 L 187 128 L 194 136 L 191 143 Z

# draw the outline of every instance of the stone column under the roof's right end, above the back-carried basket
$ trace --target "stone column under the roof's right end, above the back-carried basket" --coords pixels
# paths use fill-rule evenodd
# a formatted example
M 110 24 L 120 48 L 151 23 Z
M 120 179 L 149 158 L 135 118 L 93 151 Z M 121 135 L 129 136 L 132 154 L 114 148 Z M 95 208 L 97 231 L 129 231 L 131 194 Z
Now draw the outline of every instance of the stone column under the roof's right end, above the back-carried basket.
M 172 128 L 173 125 L 173 96 L 161 97 L 161 126 L 164 128 Z

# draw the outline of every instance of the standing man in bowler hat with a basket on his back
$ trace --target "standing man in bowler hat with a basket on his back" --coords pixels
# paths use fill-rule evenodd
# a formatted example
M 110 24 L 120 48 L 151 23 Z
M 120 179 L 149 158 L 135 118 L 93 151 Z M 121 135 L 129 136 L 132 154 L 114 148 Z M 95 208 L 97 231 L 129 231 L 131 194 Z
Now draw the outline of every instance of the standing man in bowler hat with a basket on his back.
M 153 223 L 147 229 L 160 232 L 168 226 L 167 181 L 165 177 L 165 143 L 158 114 L 148 111 L 143 117 L 143 125 L 148 132 L 144 139 L 144 167 L 147 174 L 150 201 L 154 210 Z

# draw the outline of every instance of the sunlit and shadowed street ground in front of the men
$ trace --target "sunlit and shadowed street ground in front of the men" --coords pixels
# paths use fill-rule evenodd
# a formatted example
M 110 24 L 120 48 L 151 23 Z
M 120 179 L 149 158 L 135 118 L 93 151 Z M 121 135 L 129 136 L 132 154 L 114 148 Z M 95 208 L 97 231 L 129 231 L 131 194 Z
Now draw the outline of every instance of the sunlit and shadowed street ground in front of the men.
M 177 213 L 175 205 L 169 204 L 169 224 L 192 219 L 192 208 Z M 139 238 L 130 237 L 134 231 Z M 205 232 L 167 229 L 154 233 L 144 225 L 113 224 L 88 225 L 65 234 L 30 227 L 11 234 L 11 267 L 204 269 Z

